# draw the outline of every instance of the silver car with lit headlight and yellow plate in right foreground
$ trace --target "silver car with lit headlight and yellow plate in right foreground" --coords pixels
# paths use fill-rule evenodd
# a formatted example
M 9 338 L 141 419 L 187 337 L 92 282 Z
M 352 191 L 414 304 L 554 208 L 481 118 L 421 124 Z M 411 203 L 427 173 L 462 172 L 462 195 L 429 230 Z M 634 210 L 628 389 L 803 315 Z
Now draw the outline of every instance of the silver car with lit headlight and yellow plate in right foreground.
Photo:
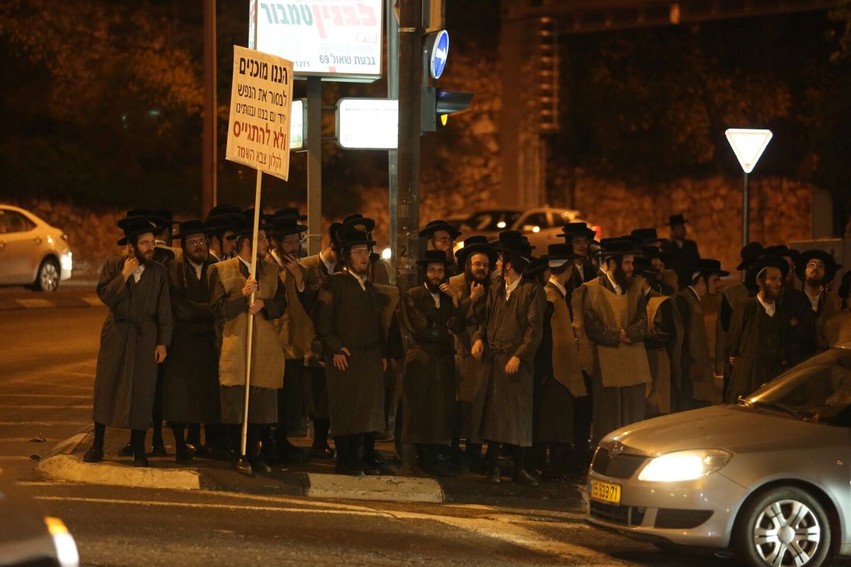
M 633 423 L 597 447 L 591 524 L 660 547 L 814 567 L 851 554 L 851 343 L 736 405 Z

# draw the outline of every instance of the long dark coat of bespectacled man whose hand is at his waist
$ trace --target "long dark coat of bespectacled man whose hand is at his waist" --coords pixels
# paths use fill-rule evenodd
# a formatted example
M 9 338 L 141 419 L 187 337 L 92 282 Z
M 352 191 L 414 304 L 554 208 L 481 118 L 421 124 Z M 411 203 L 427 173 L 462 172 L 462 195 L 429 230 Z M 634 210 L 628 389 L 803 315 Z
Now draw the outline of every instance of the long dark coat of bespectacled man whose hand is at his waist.
M 364 291 L 345 271 L 328 276 L 319 289 L 313 325 L 323 345 L 331 433 L 384 431 L 386 347 L 373 285 L 367 281 Z M 351 357 L 346 371 L 339 371 L 334 353 L 343 347 Z

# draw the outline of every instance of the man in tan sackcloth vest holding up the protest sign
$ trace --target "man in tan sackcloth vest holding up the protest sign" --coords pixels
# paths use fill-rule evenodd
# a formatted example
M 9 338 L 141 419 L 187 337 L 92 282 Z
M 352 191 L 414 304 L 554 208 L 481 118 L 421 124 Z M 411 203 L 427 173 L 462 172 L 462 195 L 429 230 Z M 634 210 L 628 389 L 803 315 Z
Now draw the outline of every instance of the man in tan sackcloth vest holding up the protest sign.
M 265 224 L 252 242 L 254 211 L 247 211 L 243 224 L 234 230 L 237 257 L 209 268 L 210 308 L 216 319 L 219 351 L 221 417 L 231 448 L 239 451 L 245 404 L 248 315 L 254 315 L 251 349 L 251 382 L 248 391 L 248 443 L 246 455 L 237 462 L 244 474 L 269 473 L 260 455 L 260 434 L 277 423 L 277 389 L 283 386 L 283 350 L 272 321 L 287 307 L 277 265 L 266 261 L 268 243 Z M 254 277 L 251 261 L 256 259 Z M 246 462 L 246 457 L 247 461 Z

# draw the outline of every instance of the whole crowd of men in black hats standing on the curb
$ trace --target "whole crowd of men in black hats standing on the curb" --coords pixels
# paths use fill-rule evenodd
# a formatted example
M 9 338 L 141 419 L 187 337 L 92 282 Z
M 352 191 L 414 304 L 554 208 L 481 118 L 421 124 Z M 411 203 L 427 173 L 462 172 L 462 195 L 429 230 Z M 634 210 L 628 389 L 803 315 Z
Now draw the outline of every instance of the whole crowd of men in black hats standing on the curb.
M 721 286 L 728 270 L 700 257 L 682 214 L 670 238 L 638 228 L 597 241 L 566 224 L 545 251 L 512 230 L 459 241 L 434 220 L 420 231 L 420 284 L 401 291 L 373 251 L 373 219 L 332 224 L 304 257 L 304 215 L 260 218 L 256 241 L 253 209 L 180 223 L 136 209 L 118 222 L 124 252 L 97 286 L 109 314 L 85 462 L 104 458 L 109 426 L 131 432 L 120 456 L 150 466 L 167 454 L 165 422 L 176 462 L 227 459 L 245 474 L 335 459 L 354 476 L 580 479 L 614 429 L 736 403 L 851 339 L 851 271 L 837 282 L 831 254 L 751 242 L 735 268 L 744 281 Z M 717 295 L 711 352 L 703 300 Z M 309 450 L 288 440 L 303 419 Z M 385 461 L 375 442 L 389 436 Z

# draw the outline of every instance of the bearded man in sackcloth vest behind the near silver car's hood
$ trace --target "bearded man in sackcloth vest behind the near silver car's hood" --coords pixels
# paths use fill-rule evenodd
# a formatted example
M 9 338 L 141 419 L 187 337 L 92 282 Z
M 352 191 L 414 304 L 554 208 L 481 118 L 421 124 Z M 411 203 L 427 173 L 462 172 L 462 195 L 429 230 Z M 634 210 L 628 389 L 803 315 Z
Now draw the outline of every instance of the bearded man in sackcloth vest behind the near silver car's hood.
M 591 347 L 592 434 L 600 439 L 644 419 L 645 390 L 651 382 L 644 337 L 647 299 L 632 277 L 635 242 L 628 236 L 600 242 L 604 274 L 589 281 L 574 298 L 574 317 L 581 314 L 580 346 Z M 578 303 L 578 304 L 577 304 Z M 580 351 L 581 355 L 581 351 Z M 581 360 L 581 359 L 580 359 Z

